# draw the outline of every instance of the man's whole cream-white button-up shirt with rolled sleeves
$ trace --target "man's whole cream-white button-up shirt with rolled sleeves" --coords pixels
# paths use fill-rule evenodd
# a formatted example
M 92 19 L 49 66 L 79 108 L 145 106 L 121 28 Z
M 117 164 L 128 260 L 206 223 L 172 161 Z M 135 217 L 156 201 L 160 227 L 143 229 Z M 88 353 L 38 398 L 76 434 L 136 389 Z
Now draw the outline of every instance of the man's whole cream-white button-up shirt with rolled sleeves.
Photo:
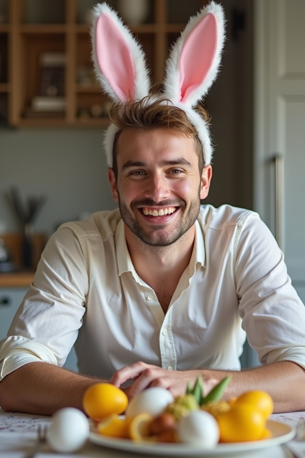
M 80 372 L 105 378 L 139 360 L 239 369 L 246 333 L 262 364 L 305 368 L 305 307 L 267 226 L 228 205 L 202 206 L 195 225 L 166 314 L 134 269 L 118 210 L 62 225 L 0 343 L 0 379 L 31 361 L 63 365 L 74 344 Z

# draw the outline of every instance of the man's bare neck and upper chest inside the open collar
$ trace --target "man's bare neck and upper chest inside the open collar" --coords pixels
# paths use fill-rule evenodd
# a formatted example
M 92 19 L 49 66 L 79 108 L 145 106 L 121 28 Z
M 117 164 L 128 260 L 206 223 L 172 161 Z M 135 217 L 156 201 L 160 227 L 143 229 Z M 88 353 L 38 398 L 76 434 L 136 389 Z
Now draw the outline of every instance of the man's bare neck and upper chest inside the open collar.
M 171 283 L 176 289 L 187 268 L 195 240 L 195 224 L 175 243 L 168 246 L 150 246 L 139 240 L 125 225 L 128 251 L 139 277 L 155 291 Z

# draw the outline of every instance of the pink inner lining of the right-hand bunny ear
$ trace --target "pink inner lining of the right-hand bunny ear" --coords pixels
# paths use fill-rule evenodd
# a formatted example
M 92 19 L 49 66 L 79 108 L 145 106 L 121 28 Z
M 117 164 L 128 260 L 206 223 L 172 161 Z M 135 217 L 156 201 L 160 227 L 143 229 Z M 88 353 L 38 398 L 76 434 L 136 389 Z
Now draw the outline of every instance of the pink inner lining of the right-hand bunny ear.
M 187 102 L 203 83 L 213 65 L 216 49 L 217 21 L 214 14 L 209 13 L 193 28 L 182 46 L 179 60 L 180 101 Z

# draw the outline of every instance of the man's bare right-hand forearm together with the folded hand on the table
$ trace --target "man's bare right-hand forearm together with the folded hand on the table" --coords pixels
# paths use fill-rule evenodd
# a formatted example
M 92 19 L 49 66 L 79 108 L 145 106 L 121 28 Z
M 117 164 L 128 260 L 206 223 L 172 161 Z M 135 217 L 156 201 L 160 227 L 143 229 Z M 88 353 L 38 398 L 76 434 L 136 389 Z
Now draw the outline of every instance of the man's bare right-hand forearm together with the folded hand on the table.
M 243 371 L 222 371 L 217 369 L 193 369 L 190 371 L 168 371 L 158 366 L 139 361 L 115 372 L 110 383 L 120 387 L 128 380 L 134 383 L 124 388 L 131 399 L 148 387 L 163 387 L 174 397 L 184 394 L 187 382 L 194 385 L 197 376 L 203 379 L 206 396 L 225 376 L 232 381 L 225 391 L 224 399 L 240 396 L 250 390 L 264 390 L 274 402 L 274 413 L 305 410 L 304 381 L 305 369 L 291 361 L 278 361 Z

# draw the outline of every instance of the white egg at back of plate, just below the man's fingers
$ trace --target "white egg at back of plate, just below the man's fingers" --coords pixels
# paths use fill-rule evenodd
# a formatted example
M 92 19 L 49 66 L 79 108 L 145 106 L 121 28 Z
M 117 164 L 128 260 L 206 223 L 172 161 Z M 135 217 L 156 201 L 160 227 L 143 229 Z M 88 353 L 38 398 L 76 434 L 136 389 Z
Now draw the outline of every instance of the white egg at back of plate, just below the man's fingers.
M 129 402 L 125 415 L 132 418 L 145 412 L 156 416 L 161 414 L 166 406 L 173 401 L 173 395 L 165 388 L 147 388 Z

